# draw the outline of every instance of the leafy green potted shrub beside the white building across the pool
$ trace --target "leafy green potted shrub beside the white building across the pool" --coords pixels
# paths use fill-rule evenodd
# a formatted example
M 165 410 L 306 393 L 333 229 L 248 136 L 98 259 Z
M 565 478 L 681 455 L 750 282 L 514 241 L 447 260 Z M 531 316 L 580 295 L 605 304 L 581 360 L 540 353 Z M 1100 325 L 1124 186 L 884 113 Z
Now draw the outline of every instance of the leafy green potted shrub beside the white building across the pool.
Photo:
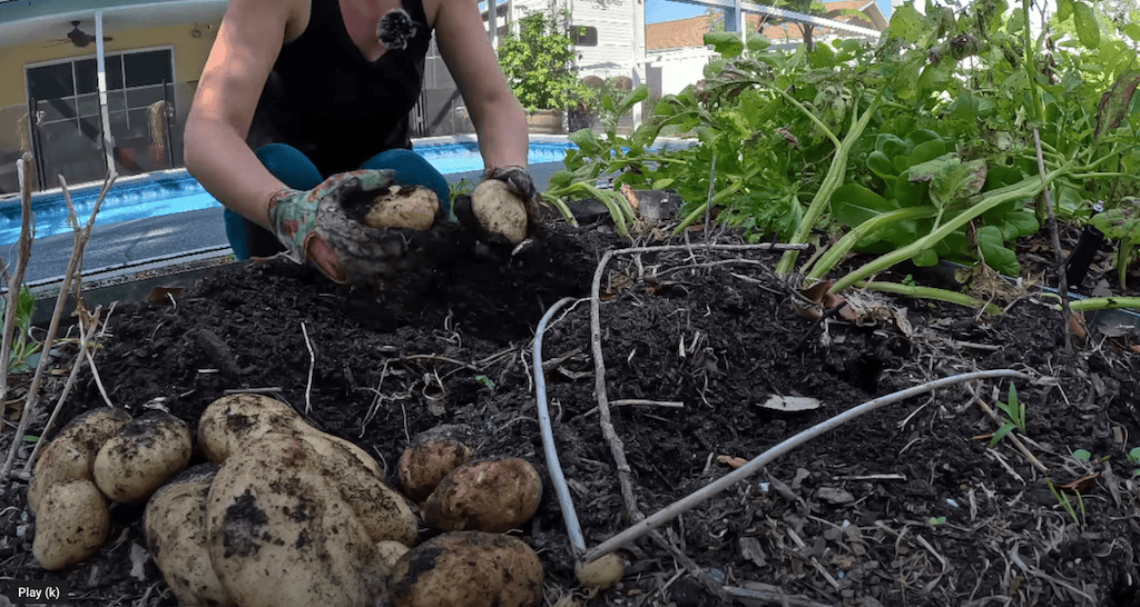
M 578 79 L 578 55 L 565 18 L 536 11 L 519 19 L 519 33 L 508 32 L 499 43 L 498 59 L 528 112 L 569 109 L 591 95 Z

